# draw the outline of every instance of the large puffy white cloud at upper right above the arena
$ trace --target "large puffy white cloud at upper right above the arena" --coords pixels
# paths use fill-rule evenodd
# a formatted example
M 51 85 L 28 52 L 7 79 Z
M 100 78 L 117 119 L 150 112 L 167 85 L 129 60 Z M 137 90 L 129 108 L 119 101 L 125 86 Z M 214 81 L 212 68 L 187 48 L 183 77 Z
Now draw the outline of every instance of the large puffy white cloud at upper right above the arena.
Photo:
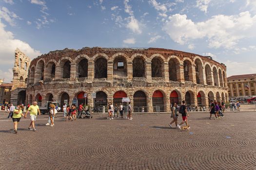
M 206 38 L 210 48 L 233 49 L 239 40 L 256 37 L 256 16 L 251 17 L 247 11 L 234 16 L 217 15 L 195 23 L 186 15 L 175 14 L 162 30 L 181 45 Z

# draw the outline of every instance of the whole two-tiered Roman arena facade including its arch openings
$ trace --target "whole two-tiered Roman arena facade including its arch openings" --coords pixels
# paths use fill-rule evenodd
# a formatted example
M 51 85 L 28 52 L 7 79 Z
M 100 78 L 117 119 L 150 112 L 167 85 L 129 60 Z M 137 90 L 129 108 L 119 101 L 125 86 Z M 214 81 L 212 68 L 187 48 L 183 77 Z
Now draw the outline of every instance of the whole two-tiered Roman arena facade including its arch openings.
M 227 102 L 226 66 L 183 51 L 99 47 L 50 51 L 30 64 L 26 104 L 72 104 L 76 98 L 102 107 L 123 97 L 130 98 L 135 112 L 170 111 L 172 102 L 182 100 L 192 106 Z

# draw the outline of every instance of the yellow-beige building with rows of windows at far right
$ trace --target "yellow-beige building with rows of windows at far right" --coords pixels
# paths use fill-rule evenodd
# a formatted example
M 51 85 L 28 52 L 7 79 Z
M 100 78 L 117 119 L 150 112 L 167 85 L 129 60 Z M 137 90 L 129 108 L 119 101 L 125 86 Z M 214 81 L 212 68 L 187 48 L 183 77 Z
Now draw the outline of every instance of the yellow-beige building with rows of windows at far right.
M 228 77 L 229 96 L 231 98 L 240 96 L 256 95 L 256 74 L 244 74 Z

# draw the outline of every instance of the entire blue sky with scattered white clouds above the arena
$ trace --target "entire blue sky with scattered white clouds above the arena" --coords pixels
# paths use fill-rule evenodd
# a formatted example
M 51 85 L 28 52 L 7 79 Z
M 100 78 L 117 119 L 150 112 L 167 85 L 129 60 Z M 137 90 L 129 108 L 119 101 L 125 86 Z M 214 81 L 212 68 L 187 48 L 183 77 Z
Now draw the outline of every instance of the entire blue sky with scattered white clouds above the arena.
M 256 0 L 0 0 L 0 78 L 16 48 L 35 58 L 82 47 L 158 47 L 256 73 Z

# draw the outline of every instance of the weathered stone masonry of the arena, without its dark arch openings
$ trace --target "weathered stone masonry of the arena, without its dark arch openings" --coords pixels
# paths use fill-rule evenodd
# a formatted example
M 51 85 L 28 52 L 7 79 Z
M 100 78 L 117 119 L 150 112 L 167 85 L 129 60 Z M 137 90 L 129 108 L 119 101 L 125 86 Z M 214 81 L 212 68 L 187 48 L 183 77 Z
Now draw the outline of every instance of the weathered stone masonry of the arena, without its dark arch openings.
M 126 70 L 123 71 L 122 69 L 118 74 L 116 58 L 123 58 L 125 60 L 124 66 Z M 86 59 L 88 62 L 87 77 L 79 76 L 78 66 L 82 59 Z M 96 62 L 98 59 L 102 60 L 100 64 Z M 139 64 L 137 62 L 138 59 L 140 59 Z M 70 78 L 63 79 L 63 63 L 66 61 L 70 61 L 71 63 Z M 155 63 L 155 61 L 157 62 Z M 186 70 L 189 77 L 188 81 L 184 79 L 184 61 L 187 62 L 188 66 Z M 173 90 L 178 93 L 179 101 L 184 100 L 185 93 L 189 92 L 192 100 L 191 103 L 195 105 L 197 105 L 198 92 L 200 92 L 204 104 L 208 103 L 209 92 L 214 94 L 213 98 L 215 99 L 228 100 L 227 82 L 223 78 L 226 75 L 220 76 L 218 74 L 218 72 L 226 74 L 225 65 L 197 54 L 155 48 L 83 48 L 78 51 L 64 49 L 62 51 L 51 51 L 34 59 L 31 62 L 30 70 L 35 69 L 36 73 L 39 72 L 42 68 L 40 67 L 41 64 L 38 64 L 42 62 L 44 63 L 45 70 L 43 77 L 47 79 L 38 81 L 36 79 L 37 75 L 34 76 L 35 78 L 32 74 L 29 75 L 29 79 L 33 81 L 30 81 L 27 88 L 26 98 L 28 102 L 35 100 L 35 96 L 40 94 L 44 103 L 48 100 L 45 96 L 48 96 L 49 93 L 53 95 L 54 100 L 60 102 L 61 95 L 66 92 L 69 95 L 71 104 L 72 99 L 77 97 L 79 92 L 83 91 L 88 94 L 88 103 L 93 105 L 91 96 L 93 92 L 103 91 L 107 94 L 108 101 L 113 101 L 113 95 L 119 90 L 127 93 L 127 96 L 132 102 L 133 94 L 136 91 L 144 91 L 147 96 L 147 106 L 151 107 L 149 111 L 153 109 L 152 95 L 156 90 L 161 91 L 164 96 L 165 111 L 170 109 L 168 105 L 170 105 L 170 94 Z M 51 72 L 49 69 L 51 69 L 52 63 L 56 65 L 54 78 L 49 75 Z M 106 66 L 107 68 L 105 68 Z M 152 68 L 152 66 L 154 67 Z M 170 66 L 174 66 L 176 71 L 170 69 Z M 198 72 L 197 77 L 196 67 Z M 136 71 L 135 74 L 134 71 Z M 157 73 L 154 71 L 157 71 Z M 170 76 L 170 74 L 174 74 L 175 72 L 175 78 L 173 78 L 174 75 Z M 106 76 L 102 76 L 103 74 Z M 133 75 L 139 75 L 141 77 L 134 77 Z M 176 81 L 171 81 L 170 78 Z M 219 83 L 221 81 L 223 82 L 222 84 Z M 214 82 L 216 85 L 214 85 Z M 220 95 L 217 95 L 217 92 Z M 222 96 L 222 98 L 218 96 Z

